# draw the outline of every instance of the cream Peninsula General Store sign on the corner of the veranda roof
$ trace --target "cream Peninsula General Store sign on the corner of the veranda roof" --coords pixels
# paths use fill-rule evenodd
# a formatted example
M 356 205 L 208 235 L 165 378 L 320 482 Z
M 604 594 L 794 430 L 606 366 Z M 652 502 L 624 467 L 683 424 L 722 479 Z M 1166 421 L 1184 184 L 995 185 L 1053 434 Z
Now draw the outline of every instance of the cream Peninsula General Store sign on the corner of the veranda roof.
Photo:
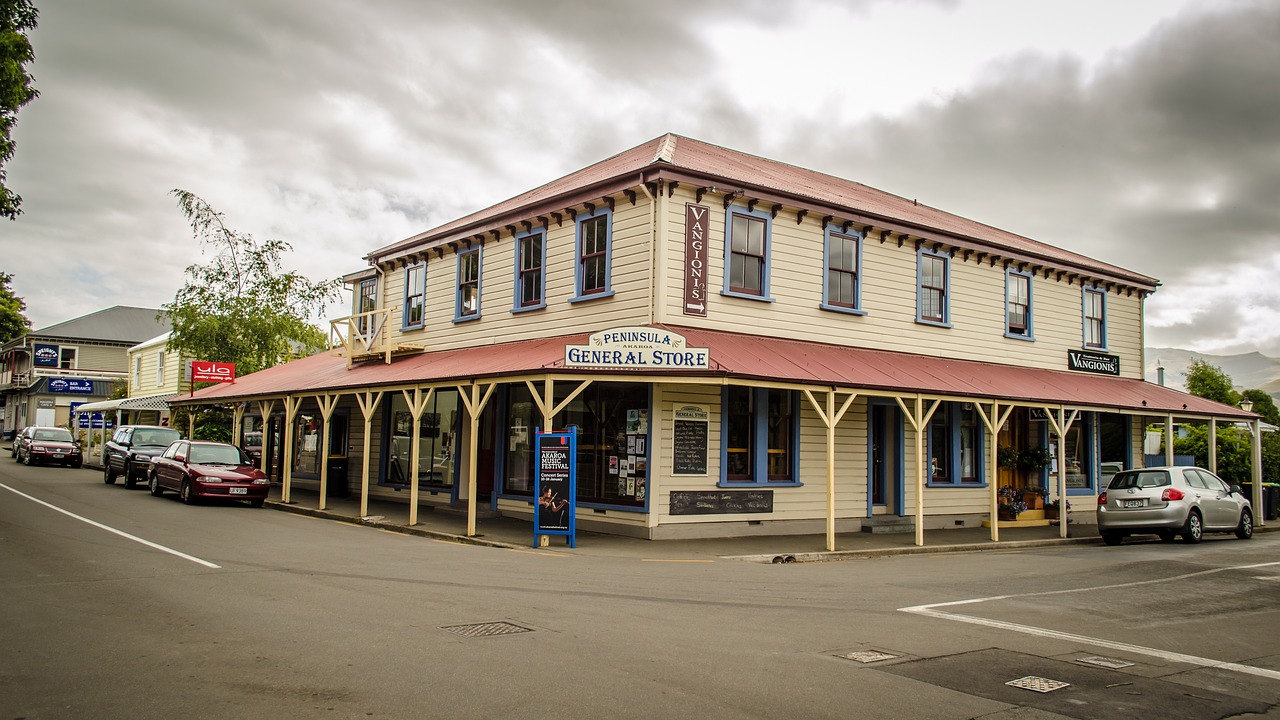
M 685 336 L 657 328 L 614 328 L 593 334 L 589 345 L 566 345 L 566 368 L 628 370 L 708 370 L 710 351 L 689 347 Z

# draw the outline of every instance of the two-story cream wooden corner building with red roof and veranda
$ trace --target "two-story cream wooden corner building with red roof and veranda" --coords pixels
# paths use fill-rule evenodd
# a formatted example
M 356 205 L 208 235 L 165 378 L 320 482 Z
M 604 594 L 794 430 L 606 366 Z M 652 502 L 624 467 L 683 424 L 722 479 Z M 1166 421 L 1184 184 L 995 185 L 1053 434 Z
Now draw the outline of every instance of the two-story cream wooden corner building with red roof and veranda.
M 274 423 L 287 500 L 475 532 L 531 515 L 534 432 L 573 425 L 580 528 L 995 537 L 1002 487 L 1091 521 L 1148 424 L 1254 418 L 1143 382 L 1151 277 L 675 135 L 366 260 L 334 351 L 192 400 Z

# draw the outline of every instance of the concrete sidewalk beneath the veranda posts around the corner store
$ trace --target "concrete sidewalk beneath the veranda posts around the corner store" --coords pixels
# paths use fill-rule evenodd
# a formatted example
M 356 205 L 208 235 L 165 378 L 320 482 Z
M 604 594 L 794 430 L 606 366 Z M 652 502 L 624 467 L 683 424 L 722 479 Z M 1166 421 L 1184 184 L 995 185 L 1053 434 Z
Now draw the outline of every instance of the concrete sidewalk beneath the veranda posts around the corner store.
M 320 496 L 315 491 L 294 488 L 292 491 L 293 502 L 289 503 L 282 502 L 279 493 L 279 486 L 274 486 L 268 507 L 449 542 L 508 550 L 535 550 L 532 524 L 525 519 L 481 516 L 476 520 L 476 536 L 467 537 L 465 511 L 421 506 L 417 514 L 417 525 L 408 527 L 408 506 L 402 502 L 370 500 L 369 516 L 361 519 L 357 496 L 329 497 L 325 502 L 326 509 L 317 510 Z M 1059 537 L 1056 525 L 1001 528 L 1000 542 L 991 542 L 989 528 L 938 529 L 925 530 L 924 546 L 915 544 L 914 532 L 841 533 L 836 536 L 836 551 L 829 552 L 826 550 L 827 538 L 822 534 L 649 541 L 580 530 L 573 548 L 568 547 L 563 537 L 552 536 L 548 538 L 550 544 L 539 547 L 536 551 L 654 561 L 818 562 L 887 555 L 1009 551 L 1025 547 L 1101 543 L 1097 528 L 1093 525 L 1071 525 L 1070 532 L 1074 537 L 1064 539 Z

